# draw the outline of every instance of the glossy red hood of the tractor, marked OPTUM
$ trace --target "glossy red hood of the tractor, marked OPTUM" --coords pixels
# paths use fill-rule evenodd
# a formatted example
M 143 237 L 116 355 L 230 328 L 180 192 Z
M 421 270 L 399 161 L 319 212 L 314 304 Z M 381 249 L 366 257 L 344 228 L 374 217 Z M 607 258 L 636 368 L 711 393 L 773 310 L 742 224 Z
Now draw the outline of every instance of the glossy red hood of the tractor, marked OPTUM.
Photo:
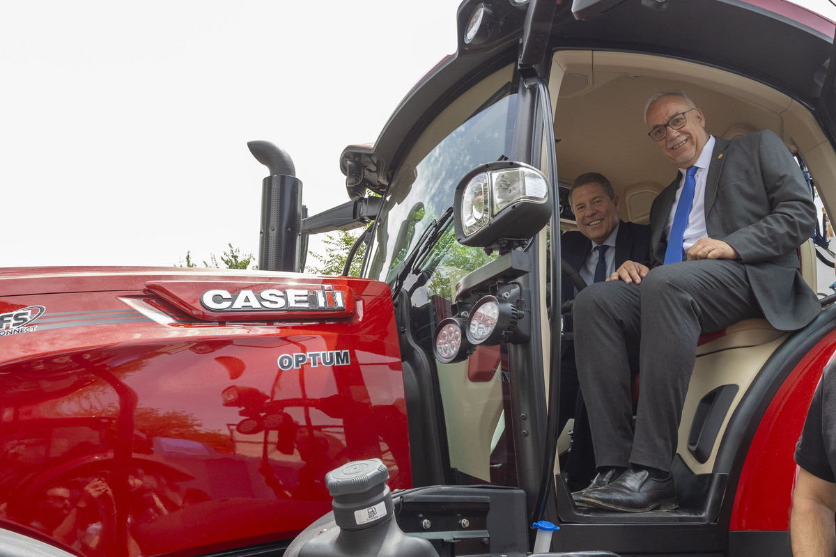
M 66 277 L 39 273 L 3 286 Z M 0 290 L 0 313 L 45 308 L 0 337 L 3 520 L 84 554 L 195 554 L 292 538 L 349 460 L 381 458 L 392 489 L 411 486 L 388 286 L 319 281 L 354 293 L 342 319 L 201 322 L 144 290 L 177 273 Z

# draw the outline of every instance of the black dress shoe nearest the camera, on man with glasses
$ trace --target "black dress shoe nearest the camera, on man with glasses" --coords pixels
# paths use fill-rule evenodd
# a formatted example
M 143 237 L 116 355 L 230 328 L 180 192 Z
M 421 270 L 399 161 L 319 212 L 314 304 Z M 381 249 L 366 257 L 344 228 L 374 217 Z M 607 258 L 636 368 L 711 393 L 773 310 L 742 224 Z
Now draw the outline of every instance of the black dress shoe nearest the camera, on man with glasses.
M 647 470 L 627 468 L 614 482 L 602 488 L 587 490 L 580 504 L 595 509 L 623 510 L 641 513 L 648 510 L 672 510 L 676 501 L 674 479 L 653 479 Z

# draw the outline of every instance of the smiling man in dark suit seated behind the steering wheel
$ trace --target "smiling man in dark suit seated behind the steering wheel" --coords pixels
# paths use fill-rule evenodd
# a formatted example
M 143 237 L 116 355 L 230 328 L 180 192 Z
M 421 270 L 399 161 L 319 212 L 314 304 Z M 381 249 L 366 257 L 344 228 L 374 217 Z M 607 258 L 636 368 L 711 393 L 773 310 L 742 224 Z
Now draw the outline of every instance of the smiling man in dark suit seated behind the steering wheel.
M 650 226 L 619 219 L 619 198 L 613 185 L 598 172 L 587 172 L 575 179 L 569 188 L 569 205 L 578 230 L 560 236 L 561 254 L 587 284 L 603 281 L 624 261 L 650 264 Z M 602 247 L 603 250 L 602 250 Z M 572 281 L 561 282 L 563 302 L 574 298 L 577 290 Z M 572 330 L 566 318 L 563 331 Z M 584 397 L 580 396 L 578 371 L 571 342 L 562 344 L 560 367 L 559 427 L 574 418 L 572 450 L 563 463 L 566 483 L 570 489 L 586 487 L 595 475 L 595 457 L 589 433 Z M 631 366 L 638 368 L 638 351 L 630 354 Z

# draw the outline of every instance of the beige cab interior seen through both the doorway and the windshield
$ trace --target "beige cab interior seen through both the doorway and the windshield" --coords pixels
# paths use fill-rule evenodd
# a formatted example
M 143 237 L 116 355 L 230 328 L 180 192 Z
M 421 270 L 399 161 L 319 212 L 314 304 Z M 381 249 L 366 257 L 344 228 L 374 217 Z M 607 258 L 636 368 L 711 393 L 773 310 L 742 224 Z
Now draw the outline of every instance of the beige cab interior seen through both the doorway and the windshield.
M 416 156 L 428 150 L 421 147 L 422 142 L 436 144 L 438 138 L 455 129 L 461 114 L 469 114 L 484 94 L 496 91 L 511 71 L 511 67 L 498 70 L 445 109 L 422 134 Z M 621 200 L 623 220 L 646 224 L 653 199 L 675 178 L 676 170 L 647 137 L 642 114 L 652 94 L 670 89 L 688 92 L 705 114 L 711 134 L 732 138 L 757 129 L 772 129 L 806 162 L 824 207 L 829 211 L 829 206 L 836 205 L 836 153 L 818 124 L 801 104 L 751 79 L 673 58 L 571 50 L 554 53 L 549 88 L 560 182 L 571 184 L 576 176 L 590 171 L 606 175 Z M 562 220 L 563 230 L 573 227 L 573 220 Z M 544 236 L 540 235 L 541 251 L 546 250 Z M 815 255 L 809 242 L 802 246 L 800 256 L 804 278 L 815 289 Z M 544 278 L 546 258 L 540 261 Z M 832 278 L 827 278 L 829 284 Z M 541 299 L 545 299 L 545 292 L 541 292 Z M 540 313 L 542 330 L 548 335 L 548 319 L 545 311 Z M 711 473 L 728 418 L 763 362 L 787 334 L 772 329 L 765 320 L 749 320 L 701 345 L 680 428 L 679 454 L 693 473 Z M 548 339 L 543 346 L 548 346 Z M 548 353 L 543 358 L 548 369 Z M 451 466 L 485 481 L 490 481 L 490 455 L 505 423 L 503 369 L 496 357 L 493 362 L 495 365 L 488 369 L 494 372 L 480 377 L 469 373 L 470 368 L 479 367 L 469 362 L 439 364 L 438 374 Z M 548 386 L 548 377 L 546 382 Z M 732 389 L 726 392 L 735 395 L 729 401 L 725 420 L 713 435 L 711 447 L 704 448 L 697 458 L 688 448 L 695 415 L 706 397 L 728 386 Z M 564 433 L 558 452 L 568 446 L 568 433 Z

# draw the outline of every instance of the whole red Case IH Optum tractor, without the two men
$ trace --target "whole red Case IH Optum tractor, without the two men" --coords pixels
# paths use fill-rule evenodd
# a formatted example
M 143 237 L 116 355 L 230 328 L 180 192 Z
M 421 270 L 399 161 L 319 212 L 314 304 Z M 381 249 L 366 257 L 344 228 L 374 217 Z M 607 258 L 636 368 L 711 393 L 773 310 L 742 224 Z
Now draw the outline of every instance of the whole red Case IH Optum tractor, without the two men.
M 641 140 L 660 90 L 686 89 L 718 137 L 771 129 L 836 205 L 833 23 L 782 0 L 466 0 L 457 18 L 456 53 L 341 154 L 344 205 L 306 216 L 292 162 L 250 145 L 269 169 L 260 271 L 0 270 L 0 555 L 279 555 L 303 532 L 288 554 L 315 554 L 343 512 L 319 518 L 326 474 L 370 459 L 392 494 L 365 519 L 394 514 L 402 555 L 525 555 L 540 520 L 567 554 L 790 554 L 793 448 L 836 350 L 824 217 L 798 248 L 821 313 L 701 339 L 680 509 L 640 514 L 575 505 L 560 473 L 551 238 L 589 170 L 647 222 L 672 178 Z M 474 240 L 477 175 L 504 201 Z M 508 198 L 500 175 L 536 192 Z M 362 278 L 302 274 L 308 234 L 369 223 Z M 487 303 L 481 342 L 436 350 Z

